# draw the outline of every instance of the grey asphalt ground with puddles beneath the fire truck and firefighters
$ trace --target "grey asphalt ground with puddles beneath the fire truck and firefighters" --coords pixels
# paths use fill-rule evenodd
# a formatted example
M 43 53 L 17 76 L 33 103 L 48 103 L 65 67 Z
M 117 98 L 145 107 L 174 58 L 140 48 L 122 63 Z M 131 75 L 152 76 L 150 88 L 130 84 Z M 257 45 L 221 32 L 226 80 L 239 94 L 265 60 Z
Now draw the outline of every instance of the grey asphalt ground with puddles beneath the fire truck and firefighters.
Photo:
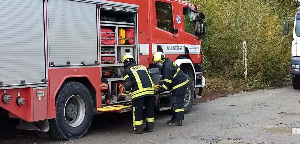
M 295 131 L 295 128 L 300 127 L 299 92 L 300 90 L 293 90 L 289 86 L 243 92 L 195 104 L 190 113 L 185 115 L 182 127 L 169 127 L 166 121 L 171 115 L 167 112 L 156 113 L 155 130 L 152 133 L 130 134 L 131 113 L 106 113 L 95 115 L 89 131 L 80 139 L 72 141 L 44 139 L 31 131 L 11 129 L 0 132 L 0 143 L 295 144 L 300 143 L 300 134 L 292 134 L 291 128 Z M 300 133 L 300 129 L 296 133 Z

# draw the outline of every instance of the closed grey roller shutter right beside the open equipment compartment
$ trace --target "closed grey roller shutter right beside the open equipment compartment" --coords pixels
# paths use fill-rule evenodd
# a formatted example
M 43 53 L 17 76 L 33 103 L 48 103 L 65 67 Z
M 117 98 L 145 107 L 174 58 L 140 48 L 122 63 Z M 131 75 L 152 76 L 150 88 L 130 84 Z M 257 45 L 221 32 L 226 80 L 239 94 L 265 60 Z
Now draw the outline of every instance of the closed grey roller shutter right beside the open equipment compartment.
M 50 61 L 72 65 L 98 60 L 96 4 L 51 0 L 48 16 Z

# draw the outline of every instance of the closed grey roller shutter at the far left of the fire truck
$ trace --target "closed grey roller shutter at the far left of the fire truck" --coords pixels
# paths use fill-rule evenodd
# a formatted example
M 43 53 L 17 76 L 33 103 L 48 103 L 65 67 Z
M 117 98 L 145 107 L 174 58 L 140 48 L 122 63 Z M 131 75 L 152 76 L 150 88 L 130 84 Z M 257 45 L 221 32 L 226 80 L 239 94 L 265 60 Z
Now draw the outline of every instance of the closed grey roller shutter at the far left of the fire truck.
M 0 81 L 45 79 L 43 1 L 0 1 Z

